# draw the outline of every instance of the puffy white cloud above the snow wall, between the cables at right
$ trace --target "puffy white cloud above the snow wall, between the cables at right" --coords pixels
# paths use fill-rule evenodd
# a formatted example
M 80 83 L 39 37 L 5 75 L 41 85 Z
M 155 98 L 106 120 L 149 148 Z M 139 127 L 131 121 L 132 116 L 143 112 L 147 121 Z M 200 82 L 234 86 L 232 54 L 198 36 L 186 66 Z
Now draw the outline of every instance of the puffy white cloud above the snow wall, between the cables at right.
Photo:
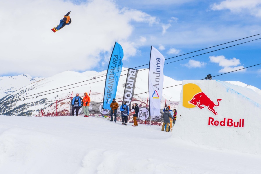
M 226 59 L 224 55 L 219 55 L 219 56 L 209 56 L 209 59 L 210 62 L 217 63 L 220 67 L 223 67 L 221 70 L 218 71 L 220 73 L 227 73 L 227 72 L 244 68 L 243 66 L 238 66 L 241 63 L 240 60 L 236 58 Z M 242 69 L 237 72 L 245 72 L 245 71 L 246 69 Z

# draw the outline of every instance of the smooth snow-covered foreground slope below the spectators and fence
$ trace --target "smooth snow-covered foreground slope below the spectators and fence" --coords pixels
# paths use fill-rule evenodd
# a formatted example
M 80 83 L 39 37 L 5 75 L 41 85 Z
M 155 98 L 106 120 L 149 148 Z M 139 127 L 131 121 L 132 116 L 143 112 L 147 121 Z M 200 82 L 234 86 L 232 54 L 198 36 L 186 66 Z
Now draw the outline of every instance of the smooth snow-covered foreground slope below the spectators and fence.
M 0 173 L 260 173 L 261 157 L 206 149 L 160 126 L 83 116 L 0 116 Z M 201 135 L 197 135 L 198 138 Z M 213 142 L 214 143 L 214 142 Z

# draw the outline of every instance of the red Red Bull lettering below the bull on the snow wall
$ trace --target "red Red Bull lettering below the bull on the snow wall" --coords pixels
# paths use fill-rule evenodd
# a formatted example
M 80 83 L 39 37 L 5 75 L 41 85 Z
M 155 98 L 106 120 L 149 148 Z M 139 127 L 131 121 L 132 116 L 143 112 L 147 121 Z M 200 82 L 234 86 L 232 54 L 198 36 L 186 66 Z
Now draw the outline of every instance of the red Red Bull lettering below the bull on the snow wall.
M 226 124 L 227 123 L 227 124 Z M 233 119 L 227 119 L 227 122 L 226 122 L 226 118 L 224 118 L 222 121 L 218 121 L 218 120 L 215 120 L 214 121 L 214 118 L 212 117 L 209 117 L 209 125 L 212 125 L 212 126 L 227 126 L 227 127 L 239 127 L 239 128 L 244 128 L 244 119 L 239 119 L 239 122 L 233 122 Z

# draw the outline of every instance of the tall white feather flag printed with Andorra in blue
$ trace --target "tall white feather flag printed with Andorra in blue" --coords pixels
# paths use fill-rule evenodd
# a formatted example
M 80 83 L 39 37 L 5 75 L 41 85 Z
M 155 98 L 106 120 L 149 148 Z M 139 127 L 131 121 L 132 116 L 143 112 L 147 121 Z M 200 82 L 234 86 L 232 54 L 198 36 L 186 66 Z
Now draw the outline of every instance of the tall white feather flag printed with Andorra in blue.
M 153 46 L 151 46 L 150 66 L 149 66 L 149 112 L 151 120 L 161 117 L 160 100 L 163 88 L 163 68 L 165 58 Z

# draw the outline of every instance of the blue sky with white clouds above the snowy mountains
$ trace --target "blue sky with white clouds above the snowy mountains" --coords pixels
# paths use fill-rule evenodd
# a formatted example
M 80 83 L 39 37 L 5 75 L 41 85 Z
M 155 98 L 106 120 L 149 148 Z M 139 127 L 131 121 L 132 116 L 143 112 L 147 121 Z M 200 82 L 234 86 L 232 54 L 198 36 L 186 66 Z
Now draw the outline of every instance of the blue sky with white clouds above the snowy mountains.
M 165 63 L 176 61 L 164 66 L 164 75 L 174 80 L 217 76 L 260 64 L 261 40 L 240 43 L 261 35 L 173 57 L 260 34 L 260 5 L 260 0 L 3 1 L 0 76 L 103 71 L 115 42 L 124 50 L 124 67 L 148 64 L 154 46 L 166 59 L 171 58 Z M 68 11 L 72 23 L 53 33 L 50 29 Z M 240 45 L 222 49 L 235 44 Z M 195 56 L 199 54 L 203 55 Z M 241 81 L 261 89 L 261 65 L 213 79 Z

